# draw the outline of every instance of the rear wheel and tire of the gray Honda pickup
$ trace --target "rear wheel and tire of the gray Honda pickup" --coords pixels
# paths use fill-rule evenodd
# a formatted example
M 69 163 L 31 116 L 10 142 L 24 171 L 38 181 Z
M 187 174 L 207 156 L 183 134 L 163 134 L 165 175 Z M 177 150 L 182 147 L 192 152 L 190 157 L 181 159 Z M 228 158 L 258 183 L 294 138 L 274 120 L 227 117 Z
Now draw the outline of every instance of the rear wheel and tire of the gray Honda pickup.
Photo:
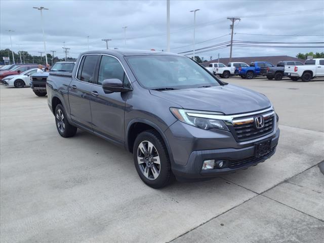
M 55 108 L 55 124 L 57 131 L 63 138 L 73 137 L 76 133 L 77 128 L 69 124 L 61 104 L 58 104 Z

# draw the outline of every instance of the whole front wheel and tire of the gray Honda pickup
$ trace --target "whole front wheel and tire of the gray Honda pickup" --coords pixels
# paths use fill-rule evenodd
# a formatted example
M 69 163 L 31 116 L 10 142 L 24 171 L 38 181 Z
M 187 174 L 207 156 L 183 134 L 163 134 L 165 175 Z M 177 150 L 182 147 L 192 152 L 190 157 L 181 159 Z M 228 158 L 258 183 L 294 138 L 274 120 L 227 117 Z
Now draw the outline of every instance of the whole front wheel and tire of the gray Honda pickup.
M 157 189 L 175 181 L 167 147 L 155 130 L 137 136 L 133 155 L 136 171 L 146 185 Z

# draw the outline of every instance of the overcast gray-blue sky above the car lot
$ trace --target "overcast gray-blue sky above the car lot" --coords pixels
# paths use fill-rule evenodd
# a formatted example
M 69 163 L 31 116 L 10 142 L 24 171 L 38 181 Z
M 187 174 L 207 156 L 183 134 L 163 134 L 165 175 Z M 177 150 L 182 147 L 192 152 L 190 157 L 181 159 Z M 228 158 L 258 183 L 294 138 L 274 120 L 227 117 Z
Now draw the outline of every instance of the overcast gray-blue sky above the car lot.
M 0 0 L 0 48 L 39 56 L 44 52 L 41 13 L 43 11 L 47 52 L 76 58 L 89 49 L 109 48 L 157 51 L 167 48 L 167 1 L 4 1 Z M 324 42 L 324 1 L 170 1 L 170 47 L 173 53 L 193 50 L 193 13 L 196 12 L 195 49 L 230 41 L 230 20 L 234 41 Z M 126 45 L 124 29 L 126 28 Z M 64 43 L 63 43 L 64 42 Z M 196 55 L 210 60 L 229 57 L 228 44 L 218 50 Z M 246 45 L 246 44 L 245 44 Z M 255 45 L 255 44 L 253 44 Z M 233 46 L 233 57 L 296 56 L 297 53 L 324 52 L 324 44 L 264 44 L 266 47 Z M 317 48 L 278 48 L 267 46 L 316 46 Z M 210 50 L 210 51 L 208 51 Z M 189 51 L 189 52 L 187 52 Z M 182 55 L 183 55 L 182 54 Z M 189 55 L 190 56 L 190 55 Z

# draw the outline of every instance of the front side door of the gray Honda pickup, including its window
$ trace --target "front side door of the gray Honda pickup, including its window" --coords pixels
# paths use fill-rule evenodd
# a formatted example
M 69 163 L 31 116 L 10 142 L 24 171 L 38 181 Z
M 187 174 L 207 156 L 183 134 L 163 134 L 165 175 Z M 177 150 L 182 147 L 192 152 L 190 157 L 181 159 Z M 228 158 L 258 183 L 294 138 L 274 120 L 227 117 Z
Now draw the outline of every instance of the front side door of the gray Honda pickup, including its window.
M 90 101 L 93 130 L 116 143 L 124 144 L 124 115 L 129 93 L 105 94 L 102 82 L 110 78 L 117 78 L 123 81 L 124 87 L 131 88 L 129 78 L 119 60 L 114 56 L 102 55 L 97 74 L 97 85 L 94 85 L 91 90 L 96 94 L 96 97 Z

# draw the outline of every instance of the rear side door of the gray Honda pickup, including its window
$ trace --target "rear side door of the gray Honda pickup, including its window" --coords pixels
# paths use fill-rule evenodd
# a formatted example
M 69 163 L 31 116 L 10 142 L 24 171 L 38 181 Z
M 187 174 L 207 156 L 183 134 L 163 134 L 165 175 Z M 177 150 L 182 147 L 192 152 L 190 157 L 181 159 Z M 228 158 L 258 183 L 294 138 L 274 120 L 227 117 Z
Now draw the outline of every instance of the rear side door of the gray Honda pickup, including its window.
M 78 66 L 76 76 L 69 85 L 69 104 L 72 120 L 79 126 L 92 130 L 90 100 L 93 98 L 95 70 L 99 55 L 85 55 Z

